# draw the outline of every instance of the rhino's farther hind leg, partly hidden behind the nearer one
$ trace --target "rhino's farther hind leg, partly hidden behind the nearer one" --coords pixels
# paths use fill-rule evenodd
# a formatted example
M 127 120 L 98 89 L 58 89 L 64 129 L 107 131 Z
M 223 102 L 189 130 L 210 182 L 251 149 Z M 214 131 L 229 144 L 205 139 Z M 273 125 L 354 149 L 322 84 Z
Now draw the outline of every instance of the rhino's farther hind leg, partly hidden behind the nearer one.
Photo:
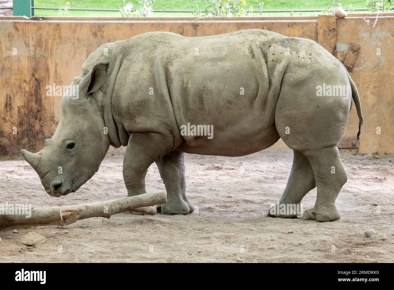
M 286 188 L 277 204 L 268 211 L 269 217 L 297 218 L 301 200 L 316 187 L 315 176 L 309 160 L 301 152 L 293 150 L 293 165 Z

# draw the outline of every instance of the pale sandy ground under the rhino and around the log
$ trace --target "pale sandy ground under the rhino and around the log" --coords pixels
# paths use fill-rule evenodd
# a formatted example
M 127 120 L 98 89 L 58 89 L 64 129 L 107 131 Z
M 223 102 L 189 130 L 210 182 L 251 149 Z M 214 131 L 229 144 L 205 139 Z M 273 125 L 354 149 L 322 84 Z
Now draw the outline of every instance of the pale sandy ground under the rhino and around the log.
M 348 182 L 336 201 L 342 218 L 331 223 L 267 217 L 286 185 L 289 150 L 185 159 L 188 196 L 198 213 L 121 213 L 65 227 L 0 230 L 0 262 L 394 262 L 394 155 L 342 155 Z M 41 207 L 124 197 L 122 161 L 121 153 L 108 154 L 91 180 L 60 198 L 45 193 L 26 161 L 0 161 L 0 203 Z M 146 183 L 147 191 L 164 190 L 156 165 Z M 315 198 L 316 189 L 303 208 Z M 369 228 L 388 240 L 364 237 Z M 22 245 L 29 231 L 45 242 Z

